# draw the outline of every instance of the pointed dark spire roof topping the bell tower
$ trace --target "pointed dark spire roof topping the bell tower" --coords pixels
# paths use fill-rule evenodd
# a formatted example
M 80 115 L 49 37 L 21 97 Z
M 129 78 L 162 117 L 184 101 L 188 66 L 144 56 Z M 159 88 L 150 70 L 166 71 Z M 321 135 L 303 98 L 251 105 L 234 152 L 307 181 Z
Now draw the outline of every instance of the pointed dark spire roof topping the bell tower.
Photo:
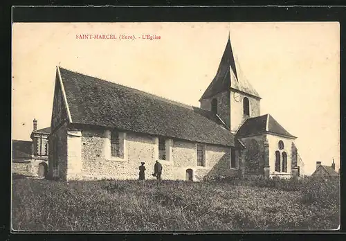
M 238 62 L 235 60 L 229 37 L 215 78 L 209 84 L 200 100 L 210 98 L 215 96 L 215 94 L 228 89 L 248 93 L 251 96 L 260 98 L 260 94 L 257 93 L 250 82 L 248 82 L 244 73 L 240 69 Z

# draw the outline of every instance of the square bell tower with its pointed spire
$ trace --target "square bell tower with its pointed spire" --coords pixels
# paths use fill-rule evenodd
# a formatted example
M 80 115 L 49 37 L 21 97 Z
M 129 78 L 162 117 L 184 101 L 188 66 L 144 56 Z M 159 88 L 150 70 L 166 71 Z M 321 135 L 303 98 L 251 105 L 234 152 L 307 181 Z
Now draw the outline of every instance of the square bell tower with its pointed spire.
M 201 108 L 213 111 L 231 132 L 237 132 L 247 118 L 260 116 L 260 100 L 235 60 L 228 35 L 215 78 L 199 100 Z

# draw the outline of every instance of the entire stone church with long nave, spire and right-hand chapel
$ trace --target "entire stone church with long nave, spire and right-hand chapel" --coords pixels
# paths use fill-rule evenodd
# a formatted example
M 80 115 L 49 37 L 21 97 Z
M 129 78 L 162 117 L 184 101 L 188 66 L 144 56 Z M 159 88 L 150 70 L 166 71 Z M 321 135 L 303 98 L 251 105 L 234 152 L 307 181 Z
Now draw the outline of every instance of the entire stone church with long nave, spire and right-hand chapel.
M 270 114 L 246 80 L 228 42 L 200 107 L 167 100 L 57 66 L 48 176 L 146 179 L 297 177 L 295 136 Z

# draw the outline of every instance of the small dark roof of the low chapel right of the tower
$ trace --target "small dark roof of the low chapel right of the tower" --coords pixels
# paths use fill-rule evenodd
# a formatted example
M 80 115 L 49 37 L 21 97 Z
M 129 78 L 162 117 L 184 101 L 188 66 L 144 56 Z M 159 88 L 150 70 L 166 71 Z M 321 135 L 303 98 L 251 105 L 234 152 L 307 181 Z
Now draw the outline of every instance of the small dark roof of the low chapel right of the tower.
M 276 134 L 295 139 L 270 114 L 248 118 L 237 131 L 237 137 L 255 136 L 258 134 Z

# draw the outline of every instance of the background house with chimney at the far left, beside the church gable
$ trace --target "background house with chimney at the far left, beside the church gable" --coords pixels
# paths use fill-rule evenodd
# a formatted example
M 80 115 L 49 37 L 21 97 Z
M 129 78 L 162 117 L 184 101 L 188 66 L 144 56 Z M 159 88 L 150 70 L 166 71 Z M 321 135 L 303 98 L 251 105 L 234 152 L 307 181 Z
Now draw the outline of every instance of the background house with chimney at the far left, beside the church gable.
M 48 136 L 51 127 L 37 130 L 33 120 L 32 141 L 12 140 L 12 173 L 29 177 L 46 177 L 48 173 Z

